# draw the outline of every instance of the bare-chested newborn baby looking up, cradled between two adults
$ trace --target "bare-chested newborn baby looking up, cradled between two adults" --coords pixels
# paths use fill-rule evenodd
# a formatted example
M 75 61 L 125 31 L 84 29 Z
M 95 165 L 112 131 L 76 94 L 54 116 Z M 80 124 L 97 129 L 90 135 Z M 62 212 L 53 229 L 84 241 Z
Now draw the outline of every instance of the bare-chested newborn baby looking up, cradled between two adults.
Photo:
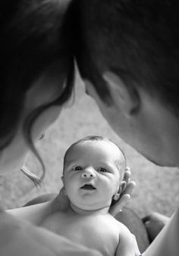
M 42 226 L 102 255 L 133 255 L 133 235 L 110 213 L 125 182 L 121 149 L 101 136 L 75 142 L 64 155 L 61 180 L 70 208 L 52 214 Z

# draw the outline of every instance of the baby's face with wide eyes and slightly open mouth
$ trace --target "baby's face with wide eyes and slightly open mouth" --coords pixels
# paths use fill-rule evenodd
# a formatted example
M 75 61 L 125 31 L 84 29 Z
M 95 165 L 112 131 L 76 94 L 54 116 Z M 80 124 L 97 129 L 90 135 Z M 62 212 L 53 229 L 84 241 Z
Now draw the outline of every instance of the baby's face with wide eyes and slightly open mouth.
M 64 163 L 64 188 L 74 206 L 98 210 L 111 205 L 121 184 L 124 155 L 108 141 L 80 142 Z

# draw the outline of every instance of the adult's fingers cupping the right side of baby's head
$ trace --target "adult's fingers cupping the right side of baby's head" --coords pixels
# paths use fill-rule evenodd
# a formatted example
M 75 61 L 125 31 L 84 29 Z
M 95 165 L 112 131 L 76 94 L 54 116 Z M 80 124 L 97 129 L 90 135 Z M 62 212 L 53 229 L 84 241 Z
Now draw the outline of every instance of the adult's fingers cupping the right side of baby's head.
M 128 200 L 130 200 L 130 195 L 136 186 L 134 181 L 130 181 L 130 175 L 130 168 L 127 167 L 124 173 L 124 181 L 122 181 L 124 188 L 121 192 L 120 198 L 113 205 L 111 205 L 109 210 L 112 216 L 116 216 L 116 214 L 119 213 L 124 206 L 126 206 Z

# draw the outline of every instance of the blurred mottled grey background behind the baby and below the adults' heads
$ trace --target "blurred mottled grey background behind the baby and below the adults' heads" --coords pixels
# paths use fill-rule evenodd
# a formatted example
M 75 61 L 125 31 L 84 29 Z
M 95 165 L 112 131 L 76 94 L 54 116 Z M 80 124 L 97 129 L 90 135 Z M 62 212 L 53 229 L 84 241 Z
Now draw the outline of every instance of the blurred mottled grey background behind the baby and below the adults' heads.
M 46 177 L 42 187 L 36 188 L 20 171 L 0 178 L 0 205 L 4 209 L 22 206 L 40 194 L 58 193 L 61 188 L 61 173 L 64 152 L 71 143 L 88 135 L 102 135 L 122 146 L 127 156 L 127 165 L 132 178 L 137 182 L 130 206 L 140 216 L 157 211 L 171 216 L 179 203 L 179 171 L 177 168 L 159 168 L 124 143 L 108 126 L 99 113 L 93 99 L 84 94 L 83 82 L 77 75 L 74 98 L 62 111 L 58 120 L 46 132 L 37 148 L 46 165 Z M 39 162 L 29 155 L 27 166 L 40 175 Z

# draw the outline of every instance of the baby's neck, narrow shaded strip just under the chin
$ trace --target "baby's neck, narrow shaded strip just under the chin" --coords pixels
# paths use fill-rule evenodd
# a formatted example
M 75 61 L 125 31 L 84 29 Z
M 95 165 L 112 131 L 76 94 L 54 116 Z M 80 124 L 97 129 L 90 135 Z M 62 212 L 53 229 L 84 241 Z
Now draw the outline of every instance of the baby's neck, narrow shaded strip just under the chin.
M 106 206 L 104 208 L 99 208 L 99 209 L 96 209 L 96 210 L 83 210 L 77 206 L 75 206 L 73 203 L 70 203 L 71 205 L 71 210 L 74 212 L 74 213 L 77 213 L 77 214 L 80 214 L 80 215 L 91 215 L 91 214 L 96 214 L 96 215 L 99 215 L 99 214 L 102 214 L 102 215 L 105 215 L 108 213 L 108 210 L 109 210 L 109 206 Z

